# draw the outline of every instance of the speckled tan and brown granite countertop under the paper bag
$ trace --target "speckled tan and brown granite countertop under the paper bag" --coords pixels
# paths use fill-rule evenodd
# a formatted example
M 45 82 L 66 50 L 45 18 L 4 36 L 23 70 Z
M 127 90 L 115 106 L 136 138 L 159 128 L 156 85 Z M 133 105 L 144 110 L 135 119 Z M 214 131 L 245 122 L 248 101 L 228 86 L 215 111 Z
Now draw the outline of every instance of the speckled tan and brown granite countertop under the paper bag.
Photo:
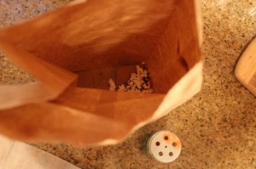
M 0 27 L 68 2 L 1 0 Z M 241 50 L 256 34 L 256 1 L 202 0 L 201 7 L 205 39 L 201 93 L 117 145 L 34 145 L 81 168 L 256 168 L 256 99 L 233 73 Z M 30 81 L 31 76 L 0 55 L 0 84 Z M 163 129 L 177 133 L 183 143 L 181 155 L 171 164 L 153 161 L 141 150 L 144 138 Z

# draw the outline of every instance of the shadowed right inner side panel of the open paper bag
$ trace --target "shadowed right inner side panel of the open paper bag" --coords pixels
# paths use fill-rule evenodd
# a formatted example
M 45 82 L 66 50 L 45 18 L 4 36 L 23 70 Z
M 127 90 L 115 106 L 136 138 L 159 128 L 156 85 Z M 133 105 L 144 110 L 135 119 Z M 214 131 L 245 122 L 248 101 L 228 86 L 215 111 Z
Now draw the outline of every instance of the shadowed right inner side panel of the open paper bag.
M 194 1 L 176 1 L 166 32 L 148 62 L 155 93 L 166 93 L 201 60 L 197 38 Z

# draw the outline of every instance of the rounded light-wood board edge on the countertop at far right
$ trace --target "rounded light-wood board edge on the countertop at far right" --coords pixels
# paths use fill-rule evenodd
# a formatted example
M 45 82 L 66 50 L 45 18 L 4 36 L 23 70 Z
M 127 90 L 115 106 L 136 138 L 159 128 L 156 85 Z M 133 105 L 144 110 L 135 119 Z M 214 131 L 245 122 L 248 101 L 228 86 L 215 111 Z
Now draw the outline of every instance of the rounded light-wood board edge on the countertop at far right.
M 256 96 L 256 38 L 249 43 L 247 48 L 241 54 L 235 76 L 241 84 Z

